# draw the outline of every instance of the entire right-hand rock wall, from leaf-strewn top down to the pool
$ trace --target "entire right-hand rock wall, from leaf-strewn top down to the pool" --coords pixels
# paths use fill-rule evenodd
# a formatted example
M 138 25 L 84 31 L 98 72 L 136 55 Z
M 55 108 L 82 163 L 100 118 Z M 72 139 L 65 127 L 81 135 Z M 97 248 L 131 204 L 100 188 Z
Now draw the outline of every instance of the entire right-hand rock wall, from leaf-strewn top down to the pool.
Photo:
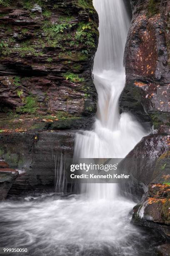
M 129 192 L 139 198 L 141 181 L 143 193 L 148 191 L 134 208 L 133 221 L 170 236 L 170 2 L 131 0 L 131 5 L 120 108 L 152 126 L 151 134 L 127 156 L 138 161 L 138 168 L 131 169 L 135 181 L 128 184 Z

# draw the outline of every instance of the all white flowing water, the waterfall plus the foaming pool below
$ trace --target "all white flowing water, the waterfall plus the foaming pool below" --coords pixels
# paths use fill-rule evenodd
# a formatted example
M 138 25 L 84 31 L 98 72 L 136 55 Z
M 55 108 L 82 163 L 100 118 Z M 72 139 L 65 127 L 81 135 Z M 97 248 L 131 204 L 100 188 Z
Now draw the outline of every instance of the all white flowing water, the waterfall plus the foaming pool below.
M 123 158 L 146 135 L 133 116 L 118 109 L 129 19 L 122 0 L 93 3 L 100 18 L 93 69 L 97 119 L 93 131 L 77 134 L 75 156 Z M 28 247 L 32 256 L 156 255 L 159 238 L 130 224 L 135 203 L 117 195 L 116 184 L 86 184 L 82 191 L 1 203 L 0 246 Z

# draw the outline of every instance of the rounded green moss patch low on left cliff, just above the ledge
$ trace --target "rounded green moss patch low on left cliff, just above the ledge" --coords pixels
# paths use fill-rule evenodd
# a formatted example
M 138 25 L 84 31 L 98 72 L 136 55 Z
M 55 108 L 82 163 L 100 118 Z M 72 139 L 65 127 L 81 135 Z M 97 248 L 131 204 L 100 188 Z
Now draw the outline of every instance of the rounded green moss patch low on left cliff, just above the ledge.
M 22 107 L 17 107 L 16 111 L 18 113 L 35 114 L 37 109 L 37 98 L 33 96 L 28 96 L 25 98 L 25 105 Z

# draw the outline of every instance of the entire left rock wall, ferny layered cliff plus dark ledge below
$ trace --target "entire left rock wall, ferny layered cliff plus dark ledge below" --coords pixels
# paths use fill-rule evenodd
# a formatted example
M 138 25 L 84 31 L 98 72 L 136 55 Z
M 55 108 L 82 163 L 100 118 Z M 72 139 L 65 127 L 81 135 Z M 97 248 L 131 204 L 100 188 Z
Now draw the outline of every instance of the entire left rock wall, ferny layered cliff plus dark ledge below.
M 0 156 L 20 170 L 10 194 L 54 189 L 72 131 L 92 126 L 97 27 L 92 0 L 0 1 Z

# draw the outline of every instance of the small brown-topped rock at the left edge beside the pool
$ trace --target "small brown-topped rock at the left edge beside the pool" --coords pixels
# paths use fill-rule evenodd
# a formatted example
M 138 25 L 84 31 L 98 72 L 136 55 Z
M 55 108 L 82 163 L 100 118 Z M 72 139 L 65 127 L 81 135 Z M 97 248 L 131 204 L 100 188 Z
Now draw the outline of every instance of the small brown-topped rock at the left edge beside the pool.
M 18 171 L 9 168 L 5 161 L 0 161 L 0 201 L 5 200 L 7 193 L 18 177 Z

